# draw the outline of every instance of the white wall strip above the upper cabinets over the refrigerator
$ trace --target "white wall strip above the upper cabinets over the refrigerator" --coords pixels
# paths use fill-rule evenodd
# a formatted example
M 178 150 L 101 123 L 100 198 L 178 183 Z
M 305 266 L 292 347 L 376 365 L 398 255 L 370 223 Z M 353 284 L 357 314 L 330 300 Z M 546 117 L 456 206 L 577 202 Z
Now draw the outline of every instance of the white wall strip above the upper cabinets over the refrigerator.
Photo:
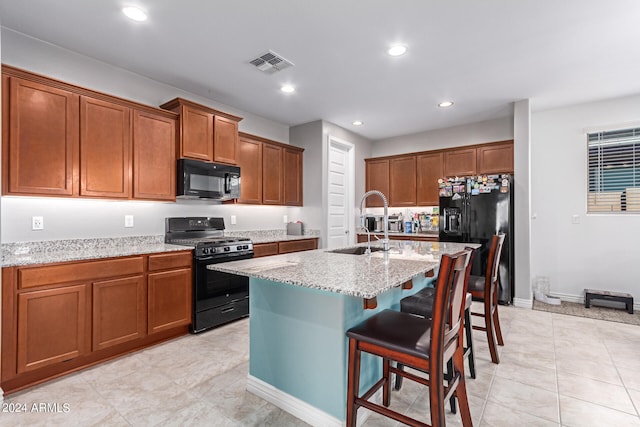
M 414 153 L 513 138 L 513 118 L 504 117 L 445 129 L 381 139 L 373 143 L 371 157 Z

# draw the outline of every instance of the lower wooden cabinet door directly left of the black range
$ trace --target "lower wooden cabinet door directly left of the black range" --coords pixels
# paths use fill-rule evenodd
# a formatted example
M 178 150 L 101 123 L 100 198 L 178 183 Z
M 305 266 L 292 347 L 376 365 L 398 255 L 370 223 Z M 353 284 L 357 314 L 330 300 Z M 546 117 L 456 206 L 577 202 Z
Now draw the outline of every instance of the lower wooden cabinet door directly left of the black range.
M 191 269 L 149 274 L 148 333 L 191 323 Z

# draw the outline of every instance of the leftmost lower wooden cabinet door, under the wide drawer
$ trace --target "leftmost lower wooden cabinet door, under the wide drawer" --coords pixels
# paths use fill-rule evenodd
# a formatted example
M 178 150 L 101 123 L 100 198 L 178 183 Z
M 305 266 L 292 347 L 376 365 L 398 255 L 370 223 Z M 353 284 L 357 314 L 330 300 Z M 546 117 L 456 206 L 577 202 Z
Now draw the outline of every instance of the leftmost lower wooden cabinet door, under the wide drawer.
M 87 286 L 18 294 L 18 373 L 88 353 Z

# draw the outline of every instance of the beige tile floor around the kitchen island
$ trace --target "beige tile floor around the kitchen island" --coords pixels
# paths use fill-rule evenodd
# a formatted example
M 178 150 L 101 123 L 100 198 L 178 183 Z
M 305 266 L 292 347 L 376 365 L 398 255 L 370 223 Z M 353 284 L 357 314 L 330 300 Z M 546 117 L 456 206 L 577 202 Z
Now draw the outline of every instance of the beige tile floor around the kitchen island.
M 475 426 L 640 426 L 638 326 L 500 310 L 499 365 L 474 331 L 478 376 L 467 390 Z M 57 403 L 61 412 L 0 412 L 0 426 L 306 425 L 245 391 L 248 328 L 242 320 L 10 395 L 5 411 L 11 404 L 30 410 L 33 403 Z M 422 417 L 425 396 L 405 381 L 392 407 Z M 459 415 L 447 417 L 448 425 L 461 424 Z M 395 425 L 378 414 L 365 423 Z

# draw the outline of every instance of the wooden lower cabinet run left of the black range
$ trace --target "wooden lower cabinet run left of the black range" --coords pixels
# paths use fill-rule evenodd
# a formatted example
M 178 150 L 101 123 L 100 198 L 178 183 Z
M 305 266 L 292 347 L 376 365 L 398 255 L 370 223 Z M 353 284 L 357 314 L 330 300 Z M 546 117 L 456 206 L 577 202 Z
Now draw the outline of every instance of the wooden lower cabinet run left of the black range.
M 3 268 L 3 391 L 187 334 L 192 260 L 185 250 Z

